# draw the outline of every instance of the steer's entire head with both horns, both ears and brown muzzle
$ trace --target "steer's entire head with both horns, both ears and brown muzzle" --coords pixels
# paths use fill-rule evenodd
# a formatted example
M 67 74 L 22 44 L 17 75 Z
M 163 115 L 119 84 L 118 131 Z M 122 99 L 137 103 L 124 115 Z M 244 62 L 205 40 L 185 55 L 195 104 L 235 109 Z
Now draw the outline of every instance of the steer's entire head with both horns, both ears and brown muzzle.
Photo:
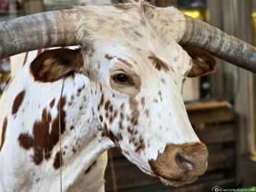
M 236 45 L 233 48 L 246 47 L 241 49 L 244 55 L 255 54 L 255 47 L 175 8 L 155 8 L 144 1 L 75 7 L 24 18 L 2 24 L 0 31 L 13 35 L 8 33 L 12 26 L 23 22 L 33 27 L 35 20 L 40 24 L 32 31 L 42 23 L 45 28 L 34 35 L 17 32 L 15 42 L 8 35 L 1 37 L 1 46 L 8 50 L 1 57 L 42 47 L 81 45 L 79 50 L 43 52 L 30 66 L 35 81 L 84 74 L 91 80 L 99 131 L 132 163 L 170 186 L 191 183 L 204 174 L 208 151 L 188 120 L 181 97 L 183 83 L 186 77 L 216 69 L 216 60 L 201 48 L 231 61 L 235 51 L 219 53 L 218 41 L 223 38 L 233 43 L 228 45 Z M 29 38 L 24 40 L 24 36 Z M 235 52 L 236 57 L 239 54 Z M 244 57 L 232 61 L 239 65 L 241 60 Z

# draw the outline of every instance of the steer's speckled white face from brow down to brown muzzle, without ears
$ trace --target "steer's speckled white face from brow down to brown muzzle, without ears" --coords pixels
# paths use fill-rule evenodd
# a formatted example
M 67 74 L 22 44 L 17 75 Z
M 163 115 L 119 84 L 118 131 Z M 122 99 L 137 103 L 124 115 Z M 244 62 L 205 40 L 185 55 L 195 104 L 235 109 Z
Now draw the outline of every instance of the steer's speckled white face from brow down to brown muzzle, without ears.
M 93 57 L 89 73 L 97 119 L 122 154 L 168 185 L 191 183 L 203 174 L 208 152 L 181 96 L 192 67 L 186 51 L 175 42 L 142 52 L 127 47 L 125 54 L 109 45 Z

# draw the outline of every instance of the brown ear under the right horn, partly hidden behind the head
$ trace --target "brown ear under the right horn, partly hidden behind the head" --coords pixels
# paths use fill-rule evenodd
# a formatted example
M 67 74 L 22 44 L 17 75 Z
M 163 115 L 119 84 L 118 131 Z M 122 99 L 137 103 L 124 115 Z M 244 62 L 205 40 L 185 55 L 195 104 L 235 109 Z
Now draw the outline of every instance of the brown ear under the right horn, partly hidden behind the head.
M 216 70 L 216 59 L 209 52 L 196 47 L 185 47 L 183 49 L 188 52 L 192 59 L 192 68 L 188 73 L 189 78 L 205 76 Z

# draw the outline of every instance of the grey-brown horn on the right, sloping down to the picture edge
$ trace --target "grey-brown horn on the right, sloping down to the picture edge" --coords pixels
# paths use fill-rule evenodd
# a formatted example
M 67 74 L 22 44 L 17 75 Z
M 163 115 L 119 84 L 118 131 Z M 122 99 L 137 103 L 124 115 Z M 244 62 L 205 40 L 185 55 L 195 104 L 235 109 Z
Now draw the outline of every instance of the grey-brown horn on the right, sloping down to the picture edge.
M 180 45 L 201 48 L 217 58 L 256 73 L 256 47 L 198 19 L 185 17 L 186 32 Z

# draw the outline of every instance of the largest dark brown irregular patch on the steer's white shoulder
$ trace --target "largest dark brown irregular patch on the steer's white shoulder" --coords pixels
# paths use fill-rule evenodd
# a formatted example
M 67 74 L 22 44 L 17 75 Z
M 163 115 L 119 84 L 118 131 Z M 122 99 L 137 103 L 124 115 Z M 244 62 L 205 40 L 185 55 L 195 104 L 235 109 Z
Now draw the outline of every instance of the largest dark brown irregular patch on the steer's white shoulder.
M 60 104 L 61 103 L 61 104 Z M 65 131 L 65 111 L 64 106 L 66 104 L 65 97 L 61 98 L 58 102 L 60 104 L 60 111 L 58 115 L 51 122 L 50 112 L 47 110 L 42 111 L 42 120 L 37 120 L 33 126 L 32 135 L 29 133 L 19 134 L 19 145 L 21 145 L 25 150 L 34 148 L 34 155 L 32 160 L 36 165 L 40 165 L 42 160 L 50 158 L 53 147 L 58 143 L 59 140 L 59 113 L 60 113 L 60 132 L 63 134 Z M 58 109 L 58 106 L 56 108 Z M 52 129 L 50 129 L 50 124 L 52 124 Z

